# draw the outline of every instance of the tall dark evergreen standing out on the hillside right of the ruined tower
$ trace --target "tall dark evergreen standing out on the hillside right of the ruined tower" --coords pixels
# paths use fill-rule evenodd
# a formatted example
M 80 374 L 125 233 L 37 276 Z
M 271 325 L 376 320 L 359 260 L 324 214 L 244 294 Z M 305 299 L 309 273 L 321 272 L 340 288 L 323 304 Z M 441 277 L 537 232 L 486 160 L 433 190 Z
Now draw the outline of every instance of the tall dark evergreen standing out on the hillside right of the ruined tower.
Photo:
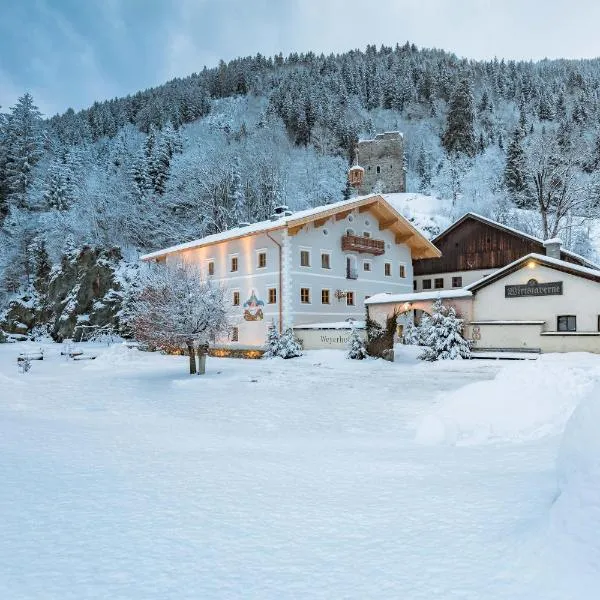
M 467 78 L 463 78 L 458 82 L 450 98 L 446 129 L 442 136 L 442 146 L 448 154 L 475 156 L 477 142 L 474 125 L 475 114 L 471 84 Z

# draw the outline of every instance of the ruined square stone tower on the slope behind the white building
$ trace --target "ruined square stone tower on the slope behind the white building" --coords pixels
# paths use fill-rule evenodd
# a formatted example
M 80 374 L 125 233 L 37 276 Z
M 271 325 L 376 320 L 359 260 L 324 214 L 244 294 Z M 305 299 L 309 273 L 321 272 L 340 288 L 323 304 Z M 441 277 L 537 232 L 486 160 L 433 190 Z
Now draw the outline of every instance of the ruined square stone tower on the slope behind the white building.
M 358 142 L 356 157 L 365 170 L 359 194 L 406 191 L 404 138 L 399 131 L 387 131 L 372 140 Z

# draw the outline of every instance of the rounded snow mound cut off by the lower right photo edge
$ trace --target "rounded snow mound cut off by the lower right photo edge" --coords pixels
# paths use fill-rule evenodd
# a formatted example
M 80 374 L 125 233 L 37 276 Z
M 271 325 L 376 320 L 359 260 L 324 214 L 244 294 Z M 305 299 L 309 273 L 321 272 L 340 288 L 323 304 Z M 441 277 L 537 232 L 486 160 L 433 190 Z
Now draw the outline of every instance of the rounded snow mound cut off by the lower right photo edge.
M 600 383 L 569 419 L 557 464 L 560 496 L 552 509 L 554 531 L 570 538 L 588 566 L 600 569 Z M 597 571 L 596 571 L 597 572 Z

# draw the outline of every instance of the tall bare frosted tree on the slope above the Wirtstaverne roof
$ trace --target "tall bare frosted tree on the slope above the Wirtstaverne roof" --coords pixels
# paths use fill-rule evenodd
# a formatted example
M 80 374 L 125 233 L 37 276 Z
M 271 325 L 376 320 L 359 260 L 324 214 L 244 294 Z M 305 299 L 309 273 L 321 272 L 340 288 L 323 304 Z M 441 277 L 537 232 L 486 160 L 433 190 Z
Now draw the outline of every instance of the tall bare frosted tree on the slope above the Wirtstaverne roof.
M 528 148 L 527 171 L 544 239 L 570 236 L 574 227 L 597 218 L 597 175 L 582 172 L 582 142 L 561 147 L 553 133 L 539 135 Z

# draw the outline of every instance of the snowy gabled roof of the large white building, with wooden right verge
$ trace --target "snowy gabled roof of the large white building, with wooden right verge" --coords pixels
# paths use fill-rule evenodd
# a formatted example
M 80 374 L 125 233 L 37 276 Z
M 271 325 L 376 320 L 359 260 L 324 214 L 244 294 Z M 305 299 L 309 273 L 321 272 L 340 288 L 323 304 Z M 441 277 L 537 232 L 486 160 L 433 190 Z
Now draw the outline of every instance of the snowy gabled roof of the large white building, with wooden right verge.
M 386 196 L 389 196 L 389 194 L 386 194 Z M 140 260 L 151 260 L 153 258 L 158 258 L 167 254 L 173 254 L 175 252 L 181 252 L 184 250 L 191 250 L 192 248 L 210 246 L 213 244 L 218 244 L 221 242 L 234 240 L 241 237 L 296 226 L 302 224 L 303 222 L 316 220 L 320 215 L 335 214 L 336 212 L 341 212 L 342 210 L 359 207 L 367 203 L 367 201 L 369 200 L 387 203 L 389 205 L 390 211 L 392 213 L 395 213 L 395 216 L 397 217 L 398 221 L 402 222 L 405 229 L 410 230 L 410 232 L 415 234 L 417 238 L 420 238 L 422 246 L 426 247 L 427 251 L 431 254 L 431 256 L 439 256 L 438 249 L 429 241 L 427 236 L 425 236 L 422 231 L 420 231 L 417 227 L 415 227 L 415 225 L 410 223 L 404 216 L 402 216 L 402 214 L 398 212 L 398 210 L 394 207 L 393 204 L 391 204 L 386 199 L 386 197 L 384 197 L 381 194 L 368 194 L 366 196 L 357 196 L 354 198 L 350 198 L 349 200 L 341 200 L 340 202 L 334 202 L 332 204 L 325 204 L 323 206 L 317 206 L 315 208 L 300 210 L 287 215 L 283 214 L 278 219 L 260 221 L 258 223 L 252 223 L 251 225 L 246 225 L 244 227 L 234 227 L 226 231 L 221 231 L 220 233 L 207 235 L 197 240 L 192 240 L 190 242 L 177 244 L 175 246 L 170 246 L 162 250 L 156 250 L 155 252 L 144 254 L 140 257 Z

